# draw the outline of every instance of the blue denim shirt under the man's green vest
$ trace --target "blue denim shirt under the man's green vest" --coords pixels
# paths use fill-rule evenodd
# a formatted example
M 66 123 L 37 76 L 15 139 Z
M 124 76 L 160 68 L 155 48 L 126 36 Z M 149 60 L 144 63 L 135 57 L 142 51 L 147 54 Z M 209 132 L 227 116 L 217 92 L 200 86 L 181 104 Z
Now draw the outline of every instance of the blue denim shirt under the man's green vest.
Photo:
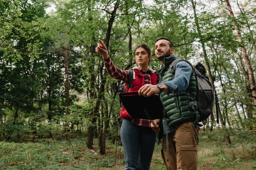
M 189 79 L 192 73 L 193 69 L 191 65 L 189 65 L 189 63 L 187 63 L 186 61 L 177 62 L 174 79 L 172 79 L 172 81 L 163 82 L 163 84 L 165 84 L 169 88 L 169 93 L 186 91 L 189 86 Z M 177 127 L 178 125 L 168 129 L 168 133 L 175 132 L 177 130 Z M 165 122 L 163 122 L 163 133 L 166 133 Z

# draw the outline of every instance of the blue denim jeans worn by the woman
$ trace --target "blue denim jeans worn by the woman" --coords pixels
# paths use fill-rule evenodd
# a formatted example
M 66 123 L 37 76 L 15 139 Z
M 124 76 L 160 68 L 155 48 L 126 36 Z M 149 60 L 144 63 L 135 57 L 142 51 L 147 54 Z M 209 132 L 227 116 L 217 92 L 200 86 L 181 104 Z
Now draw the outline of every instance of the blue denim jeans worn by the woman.
M 120 136 L 125 154 L 125 170 L 149 170 L 157 133 L 151 127 L 134 125 L 123 119 Z

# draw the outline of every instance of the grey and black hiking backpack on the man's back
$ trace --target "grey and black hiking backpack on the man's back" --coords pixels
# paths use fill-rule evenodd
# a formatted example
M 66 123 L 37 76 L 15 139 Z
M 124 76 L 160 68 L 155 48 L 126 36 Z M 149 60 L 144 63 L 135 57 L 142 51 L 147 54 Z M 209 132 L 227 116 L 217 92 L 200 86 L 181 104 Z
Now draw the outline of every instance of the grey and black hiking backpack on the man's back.
M 175 59 L 172 64 L 170 65 L 170 70 L 173 74 L 173 77 L 175 77 L 175 67 L 177 62 L 179 61 L 186 61 L 184 59 Z M 195 67 L 189 63 L 189 65 L 192 66 L 194 72 L 195 72 L 195 79 L 196 79 L 196 90 L 197 90 L 197 96 L 193 96 L 192 93 L 189 93 L 189 95 L 193 98 L 193 102 L 189 102 L 189 109 L 199 112 L 200 119 L 197 120 L 198 122 L 203 122 L 205 125 L 204 120 L 206 120 L 210 115 L 211 119 L 213 120 L 213 107 L 215 105 L 216 107 L 216 117 L 217 117 L 217 123 L 218 122 L 218 99 L 216 91 L 212 88 L 212 85 L 209 81 L 209 77 L 205 74 L 206 70 L 203 64 L 198 62 Z

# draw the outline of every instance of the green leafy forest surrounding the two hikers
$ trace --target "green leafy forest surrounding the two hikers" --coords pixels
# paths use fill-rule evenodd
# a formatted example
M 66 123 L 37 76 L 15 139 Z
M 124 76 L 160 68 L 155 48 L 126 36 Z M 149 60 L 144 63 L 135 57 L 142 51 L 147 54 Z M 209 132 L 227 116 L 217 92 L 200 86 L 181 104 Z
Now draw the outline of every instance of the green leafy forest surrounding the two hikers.
M 95 48 L 127 70 L 158 37 L 217 91 L 200 169 L 256 168 L 255 0 L 0 0 L 0 170 L 124 169 L 120 81 Z M 155 55 L 149 67 L 162 67 Z M 153 170 L 165 168 L 157 143 Z

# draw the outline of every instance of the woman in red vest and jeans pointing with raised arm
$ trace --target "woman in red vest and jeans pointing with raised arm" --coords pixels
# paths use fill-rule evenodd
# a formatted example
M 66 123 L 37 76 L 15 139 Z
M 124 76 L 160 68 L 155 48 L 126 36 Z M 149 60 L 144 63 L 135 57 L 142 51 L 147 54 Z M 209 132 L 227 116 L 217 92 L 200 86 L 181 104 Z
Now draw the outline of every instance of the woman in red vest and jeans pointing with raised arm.
M 96 52 L 102 55 L 108 74 L 114 79 L 127 82 L 129 71 L 117 68 L 110 59 L 105 44 L 101 40 L 99 42 Z M 132 68 L 135 76 L 133 76 L 133 87 L 129 88 L 129 92 L 138 91 L 144 84 L 156 85 L 159 76 L 156 71 L 148 68 L 152 59 L 148 45 L 138 45 L 134 55 L 138 66 Z M 123 118 L 120 134 L 125 154 L 125 170 L 149 170 L 157 137 L 150 127 L 150 120 L 132 119 L 124 107 L 120 117 Z

